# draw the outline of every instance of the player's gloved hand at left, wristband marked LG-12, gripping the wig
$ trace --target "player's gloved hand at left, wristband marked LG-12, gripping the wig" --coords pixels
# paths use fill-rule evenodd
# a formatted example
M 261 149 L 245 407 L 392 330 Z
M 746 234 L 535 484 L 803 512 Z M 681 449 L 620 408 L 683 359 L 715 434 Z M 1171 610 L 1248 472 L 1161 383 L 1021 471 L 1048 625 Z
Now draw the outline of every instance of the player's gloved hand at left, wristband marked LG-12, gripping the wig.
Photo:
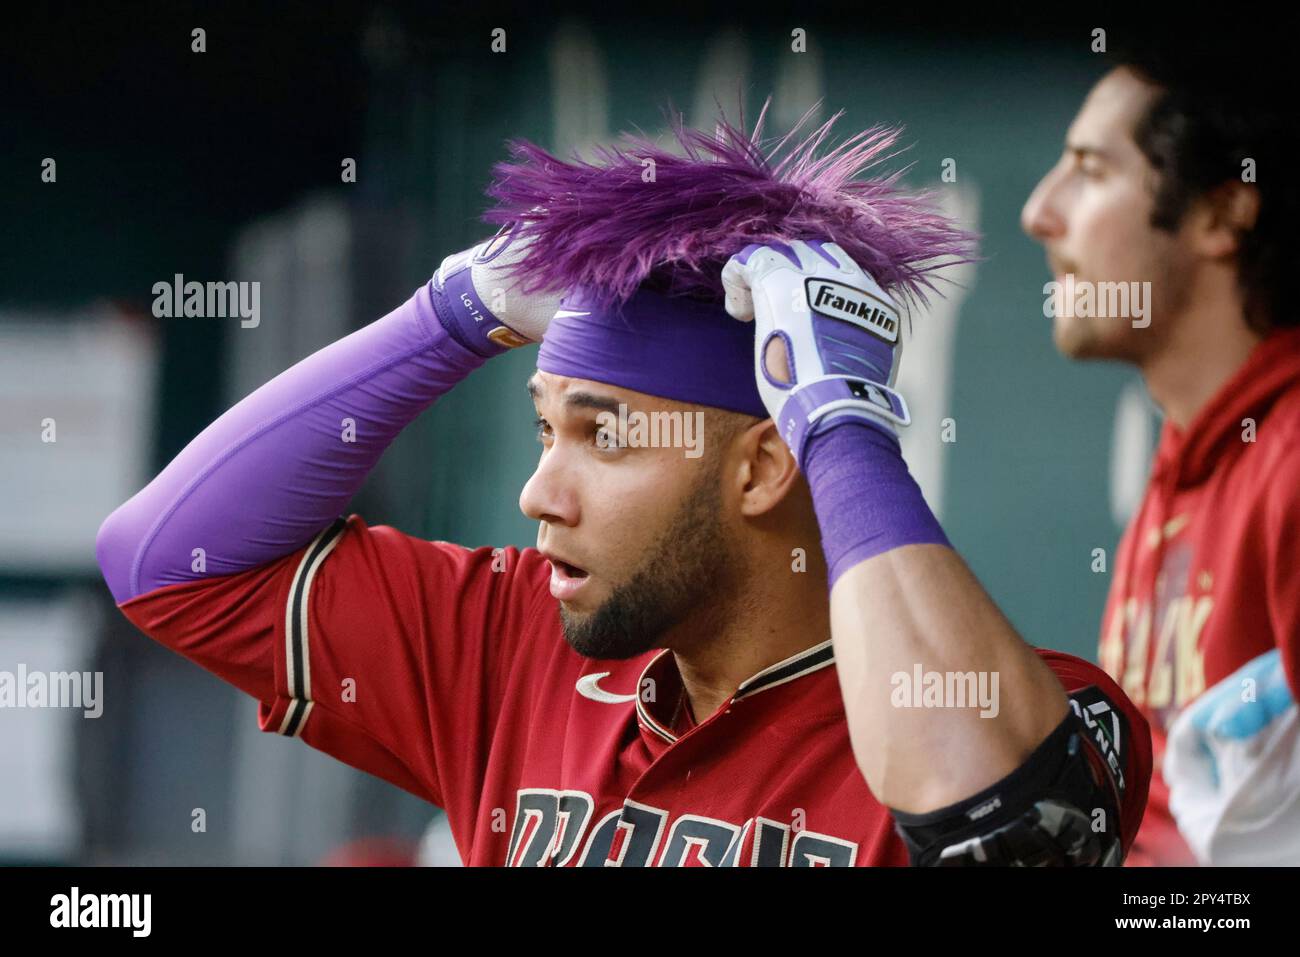
M 541 342 L 559 308 L 563 291 L 525 294 L 510 274 L 526 248 L 515 241 L 514 224 L 506 225 L 491 239 L 447 256 L 434 273 L 438 317 L 482 355 Z

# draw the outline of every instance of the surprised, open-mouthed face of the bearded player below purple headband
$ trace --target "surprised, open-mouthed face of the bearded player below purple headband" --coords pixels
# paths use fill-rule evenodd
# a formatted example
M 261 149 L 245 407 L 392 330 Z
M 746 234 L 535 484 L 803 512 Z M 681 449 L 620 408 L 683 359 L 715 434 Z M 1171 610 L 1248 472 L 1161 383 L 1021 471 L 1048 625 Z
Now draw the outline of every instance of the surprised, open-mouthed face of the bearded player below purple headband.
M 519 507 L 540 523 L 566 638 L 592 658 L 664 646 L 733 573 L 710 410 L 546 372 L 529 387 L 542 452 Z

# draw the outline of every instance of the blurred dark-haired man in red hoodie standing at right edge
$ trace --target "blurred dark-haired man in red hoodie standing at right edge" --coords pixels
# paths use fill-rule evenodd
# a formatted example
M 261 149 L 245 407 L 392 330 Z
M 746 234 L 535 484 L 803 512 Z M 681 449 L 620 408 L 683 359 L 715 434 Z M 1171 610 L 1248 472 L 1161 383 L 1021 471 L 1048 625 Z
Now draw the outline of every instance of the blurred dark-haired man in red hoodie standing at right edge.
M 1154 744 L 1131 863 L 1300 863 L 1297 124 L 1290 51 L 1249 23 L 1124 44 L 1022 216 L 1058 281 L 1139 295 L 1057 309 L 1054 338 L 1135 365 L 1165 416 L 1101 625 Z

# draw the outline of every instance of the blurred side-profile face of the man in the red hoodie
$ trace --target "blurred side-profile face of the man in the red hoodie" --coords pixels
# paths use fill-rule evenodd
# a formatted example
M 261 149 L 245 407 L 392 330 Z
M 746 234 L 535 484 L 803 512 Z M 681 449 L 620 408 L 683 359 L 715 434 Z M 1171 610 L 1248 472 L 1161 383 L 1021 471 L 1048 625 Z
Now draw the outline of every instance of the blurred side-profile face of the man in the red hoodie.
M 1134 142 L 1136 124 L 1157 94 L 1126 69 L 1102 77 L 1070 125 L 1061 159 L 1020 213 L 1024 230 L 1045 247 L 1060 283 L 1053 338 L 1065 355 L 1140 363 L 1167 335 L 1187 285 L 1178 235 L 1150 225 L 1157 173 Z M 1069 309 L 1067 273 L 1075 280 Z M 1083 315 L 1089 307 L 1079 299 L 1080 283 L 1101 291 L 1095 283 L 1104 282 L 1130 283 L 1127 315 L 1097 315 L 1112 311 L 1100 308 L 1102 296 L 1095 299 L 1093 315 Z M 1149 293 L 1143 299 L 1145 315 L 1139 315 L 1135 293 Z

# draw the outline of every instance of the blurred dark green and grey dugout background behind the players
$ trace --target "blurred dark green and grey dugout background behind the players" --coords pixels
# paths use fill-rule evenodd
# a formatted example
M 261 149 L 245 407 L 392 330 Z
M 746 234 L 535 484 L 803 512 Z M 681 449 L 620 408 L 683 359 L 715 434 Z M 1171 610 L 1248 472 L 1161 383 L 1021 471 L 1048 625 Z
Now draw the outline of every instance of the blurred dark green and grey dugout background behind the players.
M 581 150 L 660 129 L 670 100 L 706 127 L 738 90 L 750 117 L 775 96 L 772 129 L 823 98 L 823 116 L 846 111 L 841 134 L 906 126 L 896 165 L 942 185 L 987 256 L 914 317 L 909 460 L 1022 633 L 1095 657 L 1108 576 L 1092 550 L 1117 544 L 1156 420 L 1130 373 L 1056 355 L 1044 257 L 1018 224 L 1102 69 L 1089 27 L 801 10 L 14 14 L 0 57 L 0 671 L 101 671 L 104 710 L 0 710 L 0 862 L 298 865 L 359 839 L 412 856 L 437 832 L 434 809 L 259 732 L 255 702 L 135 632 L 94 536 L 216 415 L 484 235 L 504 139 Z M 190 49 L 195 27 L 205 53 Z M 341 182 L 344 157 L 356 183 Z M 948 160 L 956 182 L 940 183 Z M 152 317 L 152 285 L 176 273 L 261 282 L 260 325 Z M 534 354 L 441 400 L 354 510 L 421 537 L 533 544 L 517 495 L 536 458 Z M 940 441 L 946 417 L 954 442 Z M 434 845 L 422 859 L 448 859 Z

